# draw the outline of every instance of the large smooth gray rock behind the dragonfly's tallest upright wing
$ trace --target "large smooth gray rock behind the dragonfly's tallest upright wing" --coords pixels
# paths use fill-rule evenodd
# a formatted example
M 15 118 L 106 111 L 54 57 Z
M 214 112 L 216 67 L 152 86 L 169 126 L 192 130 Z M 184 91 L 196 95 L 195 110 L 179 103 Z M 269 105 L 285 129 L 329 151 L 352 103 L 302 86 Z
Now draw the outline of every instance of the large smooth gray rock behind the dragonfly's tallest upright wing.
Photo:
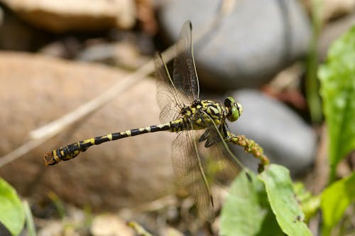
M 180 0 L 160 11 L 161 28 L 173 41 L 187 19 L 195 38 L 211 30 L 195 45 L 202 85 L 218 90 L 258 87 L 305 55 L 310 23 L 298 1 L 236 1 L 231 13 L 211 28 L 218 6 L 214 0 Z

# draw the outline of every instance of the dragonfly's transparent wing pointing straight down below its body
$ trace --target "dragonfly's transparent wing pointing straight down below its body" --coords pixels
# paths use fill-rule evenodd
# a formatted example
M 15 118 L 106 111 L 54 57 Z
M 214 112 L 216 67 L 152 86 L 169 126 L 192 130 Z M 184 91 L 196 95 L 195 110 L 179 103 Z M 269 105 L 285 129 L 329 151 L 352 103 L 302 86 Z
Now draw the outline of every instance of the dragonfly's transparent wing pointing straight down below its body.
M 214 220 L 212 195 L 197 152 L 195 131 L 180 132 L 173 141 L 171 156 L 178 181 L 194 198 L 202 220 Z

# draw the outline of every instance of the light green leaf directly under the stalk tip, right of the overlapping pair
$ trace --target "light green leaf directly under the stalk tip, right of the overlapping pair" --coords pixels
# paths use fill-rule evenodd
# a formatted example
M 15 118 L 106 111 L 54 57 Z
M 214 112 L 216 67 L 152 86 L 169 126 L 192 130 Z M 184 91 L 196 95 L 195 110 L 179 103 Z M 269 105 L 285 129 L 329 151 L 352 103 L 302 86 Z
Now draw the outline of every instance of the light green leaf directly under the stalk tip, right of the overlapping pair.
M 312 235 L 305 222 L 305 215 L 295 198 L 290 172 L 283 166 L 271 164 L 260 175 L 271 209 L 286 235 Z

